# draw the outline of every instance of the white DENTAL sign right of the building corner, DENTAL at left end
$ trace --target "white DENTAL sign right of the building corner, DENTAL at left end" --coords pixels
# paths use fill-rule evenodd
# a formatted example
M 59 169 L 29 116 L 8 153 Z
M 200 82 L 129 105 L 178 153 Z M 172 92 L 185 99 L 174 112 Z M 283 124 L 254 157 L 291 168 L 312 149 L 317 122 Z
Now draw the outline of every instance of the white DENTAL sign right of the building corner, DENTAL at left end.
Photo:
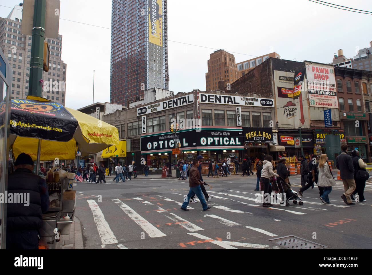
M 214 95 L 203 93 L 200 94 L 200 103 L 274 107 L 274 101 L 272 98 L 238 97 L 234 95 Z

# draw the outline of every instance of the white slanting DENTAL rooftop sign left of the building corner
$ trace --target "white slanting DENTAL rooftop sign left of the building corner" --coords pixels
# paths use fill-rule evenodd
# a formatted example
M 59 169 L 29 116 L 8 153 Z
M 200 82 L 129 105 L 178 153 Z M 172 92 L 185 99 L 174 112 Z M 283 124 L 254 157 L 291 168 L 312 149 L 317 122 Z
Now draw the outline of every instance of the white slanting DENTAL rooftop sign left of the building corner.
M 185 105 L 193 104 L 194 103 L 194 95 L 185 95 L 183 97 L 177 97 L 170 100 L 149 104 L 147 106 L 141 107 L 137 109 L 137 115 L 141 116 L 144 114 L 151 114 L 160 112 L 167 109 L 183 107 Z

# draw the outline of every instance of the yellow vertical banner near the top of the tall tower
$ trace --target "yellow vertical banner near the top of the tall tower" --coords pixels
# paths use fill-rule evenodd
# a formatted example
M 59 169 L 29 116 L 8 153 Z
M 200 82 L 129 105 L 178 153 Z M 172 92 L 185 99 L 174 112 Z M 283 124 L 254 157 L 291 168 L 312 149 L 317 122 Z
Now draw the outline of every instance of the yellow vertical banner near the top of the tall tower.
M 148 0 L 148 41 L 163 47 L 163 6 L 161 0 Z

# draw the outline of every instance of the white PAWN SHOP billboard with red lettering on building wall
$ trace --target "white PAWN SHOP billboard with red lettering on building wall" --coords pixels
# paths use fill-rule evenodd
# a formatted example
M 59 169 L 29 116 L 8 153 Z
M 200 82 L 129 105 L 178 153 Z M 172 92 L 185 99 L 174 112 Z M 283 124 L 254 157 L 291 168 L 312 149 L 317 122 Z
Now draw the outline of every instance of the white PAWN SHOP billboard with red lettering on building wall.
M 311 107 L 339 108 L 333 65 L 308 64 L 306 78 Z

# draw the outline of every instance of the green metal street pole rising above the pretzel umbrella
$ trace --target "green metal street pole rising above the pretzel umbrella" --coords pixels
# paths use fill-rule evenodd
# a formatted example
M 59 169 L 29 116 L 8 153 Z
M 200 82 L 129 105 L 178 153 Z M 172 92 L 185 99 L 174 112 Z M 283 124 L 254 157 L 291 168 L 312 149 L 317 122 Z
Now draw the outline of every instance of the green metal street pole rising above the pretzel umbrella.
M 35 0 L 32 25 L 31 64 L 28 94 L 41 97 L 44 60 L 45 9 L 47 0 Z

